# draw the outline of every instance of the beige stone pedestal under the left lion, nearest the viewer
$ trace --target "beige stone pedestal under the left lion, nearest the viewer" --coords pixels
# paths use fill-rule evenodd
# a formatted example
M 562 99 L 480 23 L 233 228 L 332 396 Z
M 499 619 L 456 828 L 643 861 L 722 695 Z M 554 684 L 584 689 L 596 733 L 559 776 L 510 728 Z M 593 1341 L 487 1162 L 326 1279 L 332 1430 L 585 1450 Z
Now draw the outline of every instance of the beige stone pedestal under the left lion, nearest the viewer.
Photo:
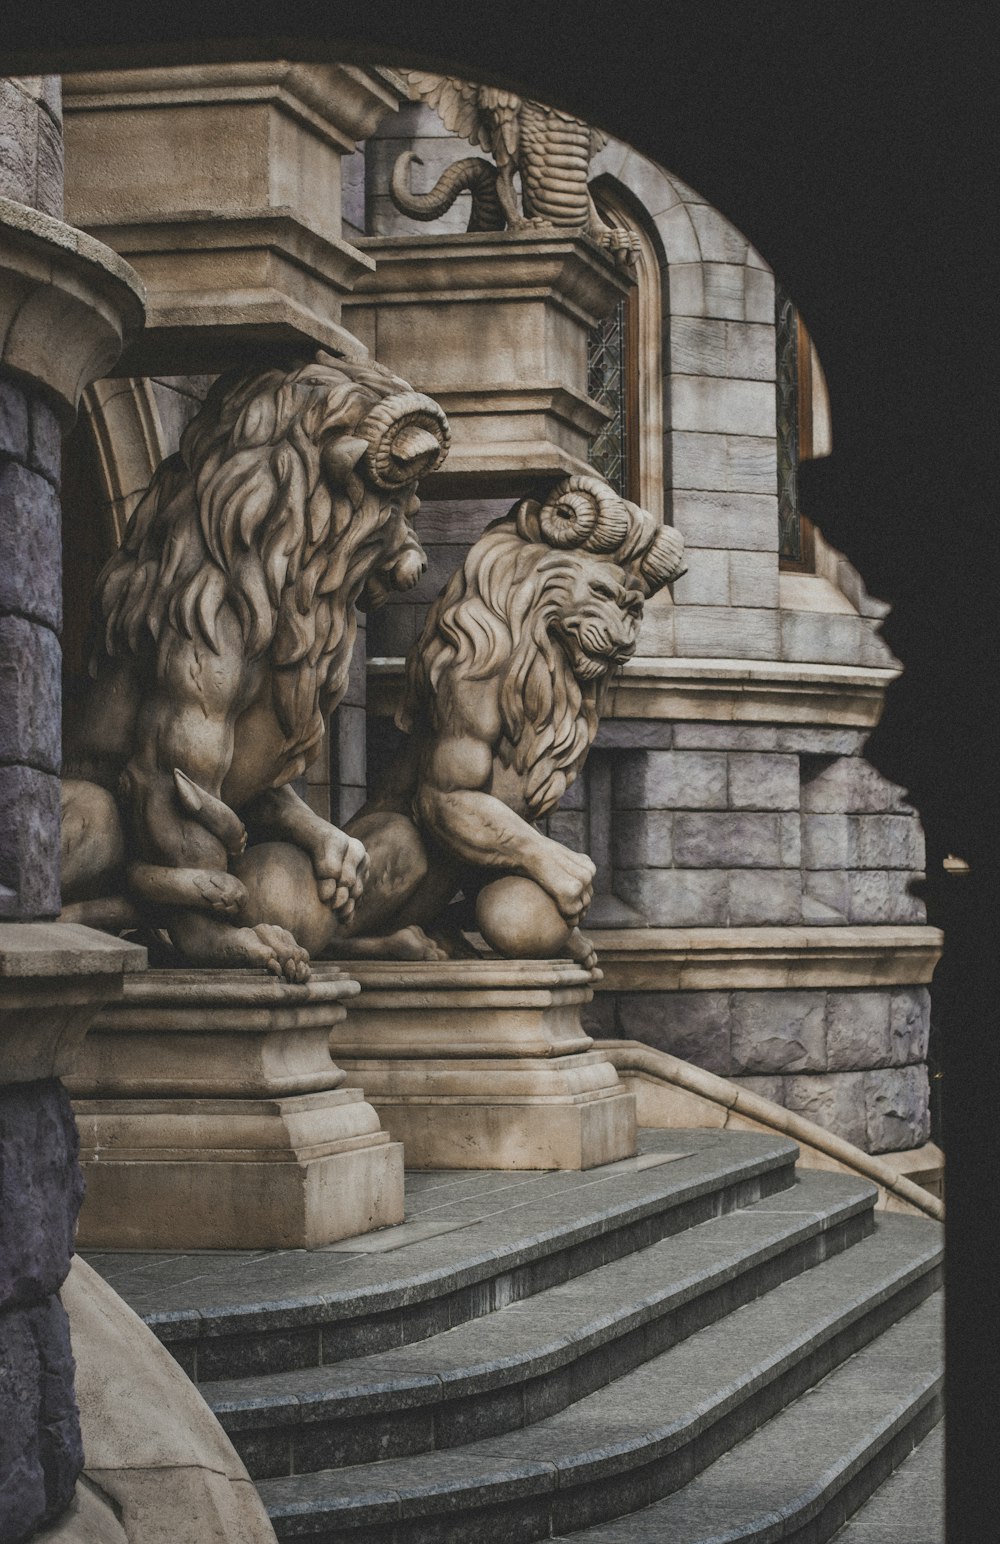
M 66 1079 L 90 1249 L 313 1248 L 403 1218 L 403 1149 L 330 1061 L 356 982 L 150 971 Z

